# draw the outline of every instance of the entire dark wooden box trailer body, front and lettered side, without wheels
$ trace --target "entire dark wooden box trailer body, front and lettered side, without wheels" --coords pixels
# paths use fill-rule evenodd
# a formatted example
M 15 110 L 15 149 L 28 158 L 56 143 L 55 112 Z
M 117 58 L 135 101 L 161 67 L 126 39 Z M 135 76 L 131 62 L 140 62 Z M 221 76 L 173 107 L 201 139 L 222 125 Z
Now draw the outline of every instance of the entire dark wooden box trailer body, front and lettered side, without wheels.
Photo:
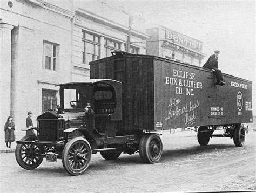
M 91 79 L 122 82 L 123 129 L 252 122 L 252 82 L 155 56 L 117 53 L 90 63 Z

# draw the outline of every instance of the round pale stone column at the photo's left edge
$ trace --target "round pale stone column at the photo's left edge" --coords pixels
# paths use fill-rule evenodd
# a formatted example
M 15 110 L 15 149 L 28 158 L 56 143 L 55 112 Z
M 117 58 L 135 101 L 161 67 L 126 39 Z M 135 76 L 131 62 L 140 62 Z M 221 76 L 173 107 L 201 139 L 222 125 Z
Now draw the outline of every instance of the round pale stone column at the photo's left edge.
M 11 112 L 11 30 L 14 26 L 0 23 L 0 128 L 4 127 Z M 1 146 L 4 132 L 0 132 Z

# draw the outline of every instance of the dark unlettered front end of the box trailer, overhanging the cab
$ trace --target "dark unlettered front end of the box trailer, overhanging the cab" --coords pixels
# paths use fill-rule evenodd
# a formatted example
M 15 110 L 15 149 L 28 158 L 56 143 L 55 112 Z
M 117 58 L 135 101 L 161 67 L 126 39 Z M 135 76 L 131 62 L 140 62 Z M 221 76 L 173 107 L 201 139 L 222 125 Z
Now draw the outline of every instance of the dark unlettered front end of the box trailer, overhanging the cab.
M 106 78 L 122 82 L 124 131 L 152 130 L 154 129 L 154 57 L 135 56 L 137 55 L 128 54 L 93 61 L 90 63 L 90 78 Z

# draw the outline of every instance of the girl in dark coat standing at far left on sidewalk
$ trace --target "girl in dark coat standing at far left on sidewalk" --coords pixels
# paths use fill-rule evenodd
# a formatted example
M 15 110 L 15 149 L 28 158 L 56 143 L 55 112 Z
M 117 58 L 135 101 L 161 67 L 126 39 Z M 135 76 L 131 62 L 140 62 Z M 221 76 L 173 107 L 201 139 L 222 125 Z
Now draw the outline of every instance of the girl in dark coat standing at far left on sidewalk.
M 11 116 L 8 116 L 7 121 L 4 125 L 4 139 L 6 142 L 6 147 L 11 149 L 11 143 L 15 141 L 15 135 L 14 135 L 15 125 L 14 120 Z M 9 142 L 9 145 L 8 145 Z

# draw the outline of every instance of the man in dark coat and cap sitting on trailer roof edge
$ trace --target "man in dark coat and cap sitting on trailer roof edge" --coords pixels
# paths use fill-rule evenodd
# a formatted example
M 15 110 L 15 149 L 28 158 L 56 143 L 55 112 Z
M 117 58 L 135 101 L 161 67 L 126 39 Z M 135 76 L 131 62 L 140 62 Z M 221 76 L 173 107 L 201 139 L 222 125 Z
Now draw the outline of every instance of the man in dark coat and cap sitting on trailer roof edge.
M 203 66 L 203 68 L 208 68 L 214 71 L 215 75 L 216 75 L 216 79 L 217 79 L 217 85 L 223 86 L 226 83 L 223 81 L 223 77 L 222 77 L 222 72 L 221 70 L 218 69 L 218 55 L 219 55 L 220 51 L 219 50 L 215 50 L 214 54 L 212 56 L 210 56 L 210 58 L 206 61 L 205 65 Z

